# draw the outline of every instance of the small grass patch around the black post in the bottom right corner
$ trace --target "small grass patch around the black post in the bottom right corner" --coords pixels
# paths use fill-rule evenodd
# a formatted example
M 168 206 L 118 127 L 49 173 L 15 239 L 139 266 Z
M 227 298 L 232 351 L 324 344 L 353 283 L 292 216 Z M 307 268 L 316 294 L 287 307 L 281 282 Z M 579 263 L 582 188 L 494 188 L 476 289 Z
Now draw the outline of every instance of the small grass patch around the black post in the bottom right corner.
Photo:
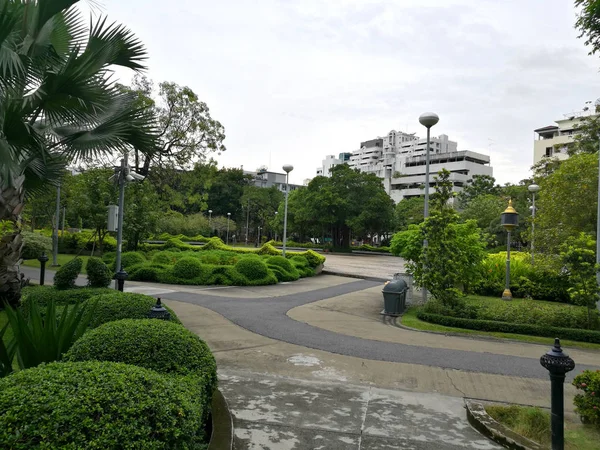
M 521 436 L 544 447 L 550 447 L 550 414 L 540 408 L 525 406 L 488 406 L 487 413 L 496 421 Z M 600 442 L 600 429 L 593 425 L 565 424 L 566 450 L 595 450 Z

